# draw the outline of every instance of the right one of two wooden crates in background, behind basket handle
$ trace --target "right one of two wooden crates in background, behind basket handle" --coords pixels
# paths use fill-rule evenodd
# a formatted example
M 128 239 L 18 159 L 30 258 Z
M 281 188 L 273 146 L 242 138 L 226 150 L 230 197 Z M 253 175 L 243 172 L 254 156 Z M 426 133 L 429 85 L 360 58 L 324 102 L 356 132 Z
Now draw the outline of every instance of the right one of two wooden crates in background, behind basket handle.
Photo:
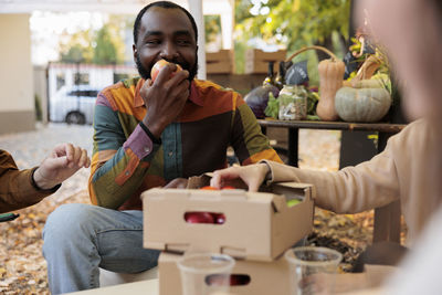
M 274 71 L 281 61 L 285 61 L 287 51 L 278 50 L 275 52 L 264 52 L 257 49 L 251 49 L 245 52 L 244 71 L 246 74 L 266 74 L 269 71 L 269 62 L 274 62 Z

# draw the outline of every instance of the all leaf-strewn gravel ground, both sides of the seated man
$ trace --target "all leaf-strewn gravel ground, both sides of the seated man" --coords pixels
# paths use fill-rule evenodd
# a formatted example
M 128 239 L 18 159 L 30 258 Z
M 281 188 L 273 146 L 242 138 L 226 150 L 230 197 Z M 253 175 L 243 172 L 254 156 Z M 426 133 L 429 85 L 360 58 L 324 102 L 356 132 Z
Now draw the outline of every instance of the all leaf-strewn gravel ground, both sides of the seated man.
M 64 124 L 39 125 L 35 131 L 0 135 L 0 148 L 12 154 L 20 168 L 36 166 L 60 143 L 72 143 L 92 151 L 91 126 Z M 284 136 L 283 136 L 284 137 Z M 336 170 L 339 159 L 338 131 L 301 130 L 299 166 Z M 49 294 L 46 265 L 41 253 L 41 231 L 49 213 L 67 202 L 88 202 L 86 191 L 90 169 L 82 169 L 53 196 L 31 208 L 18 211 L 13 222 L 0 223 L 0 294 Z M 328 243 L 346 251 L 351 263 L 370 241 L 372 213 L 336 215 L 316 210 L 312 243 Z M 324 238 L 325 236 L 325 238 Z M 328 240 L 330 242 L 327 242 Z M 32 263 L 30 263 L 32 262 Z

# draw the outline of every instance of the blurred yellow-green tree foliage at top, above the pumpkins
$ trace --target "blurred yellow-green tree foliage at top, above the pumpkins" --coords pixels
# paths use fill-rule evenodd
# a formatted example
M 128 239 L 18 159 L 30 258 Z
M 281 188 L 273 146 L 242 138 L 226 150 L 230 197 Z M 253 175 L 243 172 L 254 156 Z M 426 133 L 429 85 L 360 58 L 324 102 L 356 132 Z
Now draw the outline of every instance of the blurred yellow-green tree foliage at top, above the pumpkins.
M 236 10 L 238 29 L 249 32 L 250 38 L 286 45 L 288 51 L 324 43 L 334 31 L 348 38 L 349 0 L 261 0 L 256 6 L 248 0 L 238 2 L 236 9 L 242 9 Z M 251 9 L 259 14 L 253 15 Z

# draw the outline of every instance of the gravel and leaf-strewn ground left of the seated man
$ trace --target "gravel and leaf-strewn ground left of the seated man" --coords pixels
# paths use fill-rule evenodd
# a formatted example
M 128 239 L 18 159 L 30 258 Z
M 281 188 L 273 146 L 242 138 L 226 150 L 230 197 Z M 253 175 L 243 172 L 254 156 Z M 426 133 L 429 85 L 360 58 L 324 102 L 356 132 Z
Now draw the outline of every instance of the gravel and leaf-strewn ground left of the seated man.
M 0 136 L 0 148 L 8 150 L 19 168 L 38 166 L 57 144 L 72 143 L 92 152 L 91 126 L 38 125 L 36 130 Z M 20 218 L 0 223 L 0 294 L 49 294 L 46 264 L 41 253 L 41 232 L 46 217 L 66 202 L 88 202 L 90 169 L 82 169 L 64 181 L 52 196 L 36 206 L 19 210 Z M 32 262 L 32 263 L 30 263 Z

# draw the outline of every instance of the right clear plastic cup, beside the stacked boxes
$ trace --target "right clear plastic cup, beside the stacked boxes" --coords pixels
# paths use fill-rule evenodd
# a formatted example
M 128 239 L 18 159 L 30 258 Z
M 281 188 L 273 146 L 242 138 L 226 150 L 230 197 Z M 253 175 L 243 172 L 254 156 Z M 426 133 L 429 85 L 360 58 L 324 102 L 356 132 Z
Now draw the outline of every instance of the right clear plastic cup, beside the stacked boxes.
M 293 247 L 285 252 L 290 265 L 292 294 L 333 294 L 336 271 L 343 254 L 317 246 Z

